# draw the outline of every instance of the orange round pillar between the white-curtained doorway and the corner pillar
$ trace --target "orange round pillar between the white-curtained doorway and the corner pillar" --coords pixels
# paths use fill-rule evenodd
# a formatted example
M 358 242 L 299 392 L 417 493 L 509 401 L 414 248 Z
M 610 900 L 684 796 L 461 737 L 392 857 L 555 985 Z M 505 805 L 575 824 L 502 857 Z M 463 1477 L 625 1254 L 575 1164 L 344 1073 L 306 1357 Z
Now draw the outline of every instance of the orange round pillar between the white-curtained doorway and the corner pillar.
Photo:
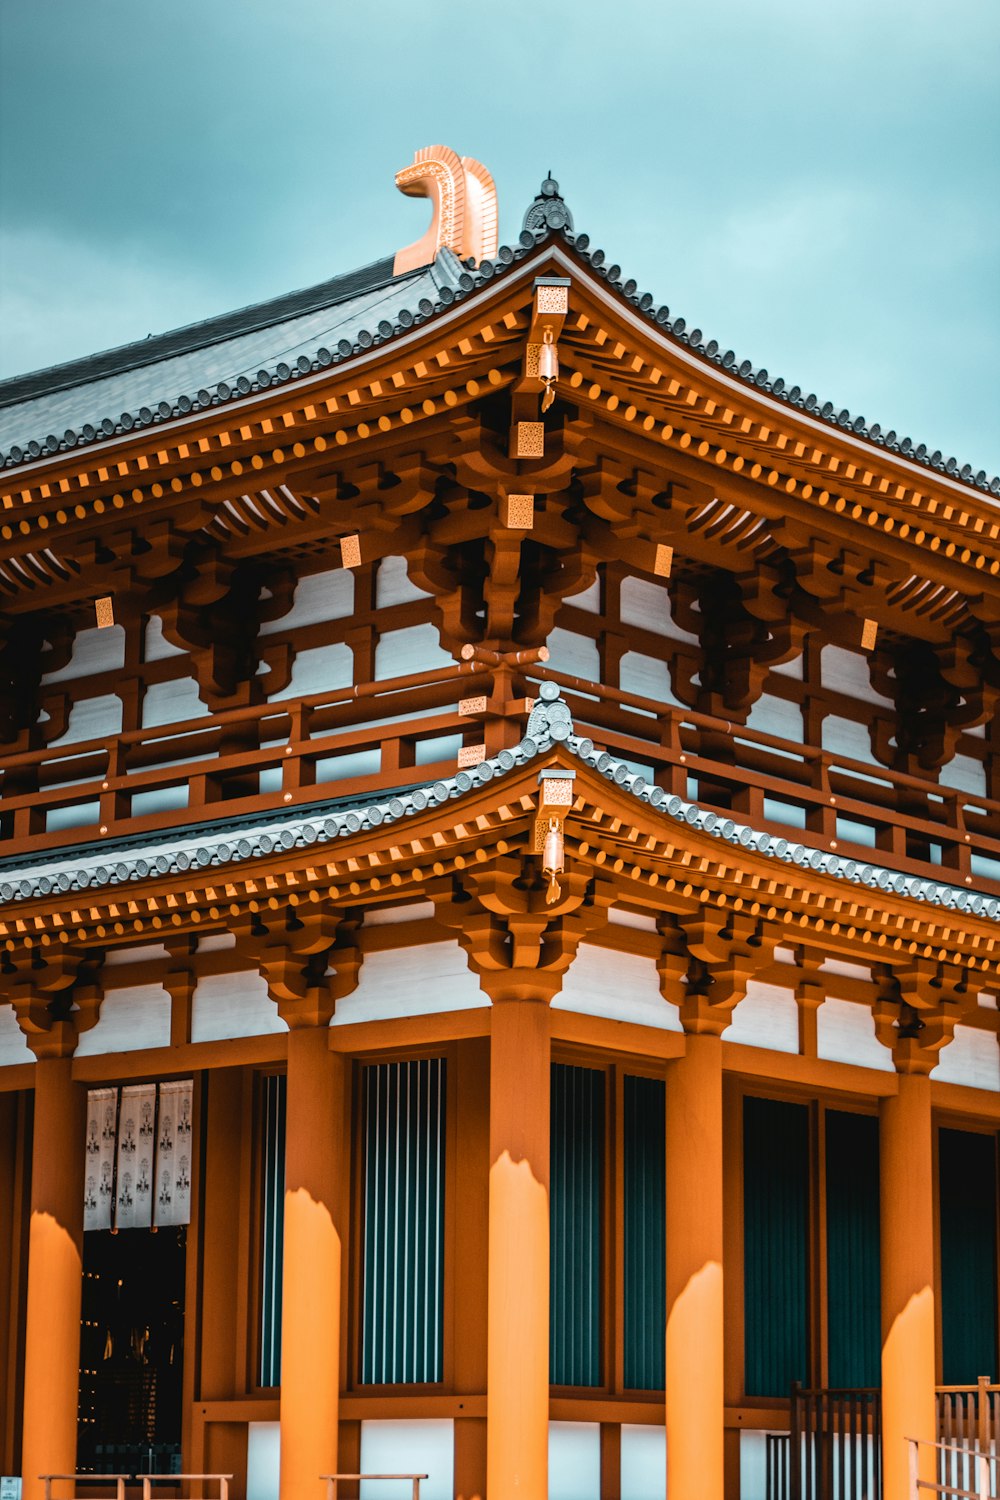
M 288 1034 L 280 1500 L 325 1500 L 337 1472 L 340 1278 L 346 1270 L 348 1064 L 325 1026 Z

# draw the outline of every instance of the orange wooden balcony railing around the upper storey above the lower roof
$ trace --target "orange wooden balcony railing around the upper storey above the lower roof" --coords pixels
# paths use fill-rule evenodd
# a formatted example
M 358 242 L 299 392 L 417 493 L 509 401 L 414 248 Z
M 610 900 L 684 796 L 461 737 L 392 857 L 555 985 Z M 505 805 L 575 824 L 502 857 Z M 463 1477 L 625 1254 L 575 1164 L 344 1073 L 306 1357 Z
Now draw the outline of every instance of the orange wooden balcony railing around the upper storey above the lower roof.
M 577 734 L 675 795 L 859 864 L 1000 894 L 997 801 L 546 666 L 520 669 L 522 682 L 541 680 L 561 686 Z M 495 752 L 520 738 L 526 710 L 513 682 L 510 664 L 469 660 L 0 758 L 0 858 L 448 776 L 457 746 Z M 148 810 L 154 800 L 163 806 Z

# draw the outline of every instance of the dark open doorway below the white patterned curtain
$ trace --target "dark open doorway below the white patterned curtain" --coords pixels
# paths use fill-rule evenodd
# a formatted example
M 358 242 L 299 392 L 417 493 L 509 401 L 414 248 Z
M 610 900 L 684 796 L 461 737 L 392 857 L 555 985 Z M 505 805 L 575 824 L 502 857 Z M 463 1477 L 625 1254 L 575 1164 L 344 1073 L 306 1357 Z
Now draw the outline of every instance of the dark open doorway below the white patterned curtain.
M 79 1473 L 180 1473 L 186 1236 L 84 1234 Z

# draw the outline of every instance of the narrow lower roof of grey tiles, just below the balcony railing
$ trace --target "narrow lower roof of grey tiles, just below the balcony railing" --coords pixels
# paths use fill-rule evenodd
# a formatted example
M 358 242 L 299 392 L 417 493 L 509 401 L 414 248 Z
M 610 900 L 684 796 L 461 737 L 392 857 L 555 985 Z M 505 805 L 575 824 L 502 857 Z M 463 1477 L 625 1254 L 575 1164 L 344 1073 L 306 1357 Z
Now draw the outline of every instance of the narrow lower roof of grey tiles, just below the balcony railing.
M 789 838 L 762 832 L 750 824 L 723 818 L 697 802 L 670 796 L 661 786 L 639 776 L 625 760 L 604 750 L 595 750 L 591 740 L 574 734 L 570 710 L 558 696 L 552 682 L 541 684 L 541 698 L 528 720 L 528 734 L 513 750 L 481 760 L 469 771 L 429 786 L 400 792 L 382 801 L 345 801 L 330 810 L 295 813 L 274 819 L 265 825 L 250 825 L 220 832 L 199 832 L 196 837 L 171 836 L 169 842 L 151 838 L 145 846 L 133 846 L 127 854 L 111 858 L 106 852 L 81 855 L 72 852 L 63 860 L 46 854 L 34 866 L 22 866 L 7 879 L 0 878 L 0 908 L 9 903 L 37 900 L 51 894 L 69 891 L 93 891 L 112 885 L 127 885 L 165 874 L 180 874 L 187 870 L 205 870 L 217 866 L 232 866 L 268 860 L 288 849 L 307 849 L 316 844 L 336 843 L 382 825 L 399 824 L 430 807 L 439 807 L 462 798 L 478 786 L 502 778 L 519 766 L 547 754 L 555 746 L 564 746 L 570 754 L 592 766 L 609 782 L 622 788 L 639 802 L 645 802 L 666 818 L 688 828 L 711 834 L 724 843 L 741 844 L 781 864 L 810 868 L 850 885 L 886 891 L 909 897 L 948 910 L 969 912 L 973 916 L 1000 922 L 1000 898 L 964 886 L 927 880 L 921 876 L 901 874 L 885 866 L 844 858 L 825 849 L 796 843 Z M 552 694 L 556 696 L 552 696 Z

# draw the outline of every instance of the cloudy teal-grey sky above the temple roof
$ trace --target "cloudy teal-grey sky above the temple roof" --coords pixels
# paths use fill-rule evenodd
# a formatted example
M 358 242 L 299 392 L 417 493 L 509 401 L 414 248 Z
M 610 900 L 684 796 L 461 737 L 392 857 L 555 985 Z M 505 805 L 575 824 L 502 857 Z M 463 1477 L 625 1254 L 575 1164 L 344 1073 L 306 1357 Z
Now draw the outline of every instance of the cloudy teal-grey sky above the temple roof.
M 393 254 L 552 168 L 672 312 L 1000 470 L 997 0 L 0 0 L 0 376 Z

